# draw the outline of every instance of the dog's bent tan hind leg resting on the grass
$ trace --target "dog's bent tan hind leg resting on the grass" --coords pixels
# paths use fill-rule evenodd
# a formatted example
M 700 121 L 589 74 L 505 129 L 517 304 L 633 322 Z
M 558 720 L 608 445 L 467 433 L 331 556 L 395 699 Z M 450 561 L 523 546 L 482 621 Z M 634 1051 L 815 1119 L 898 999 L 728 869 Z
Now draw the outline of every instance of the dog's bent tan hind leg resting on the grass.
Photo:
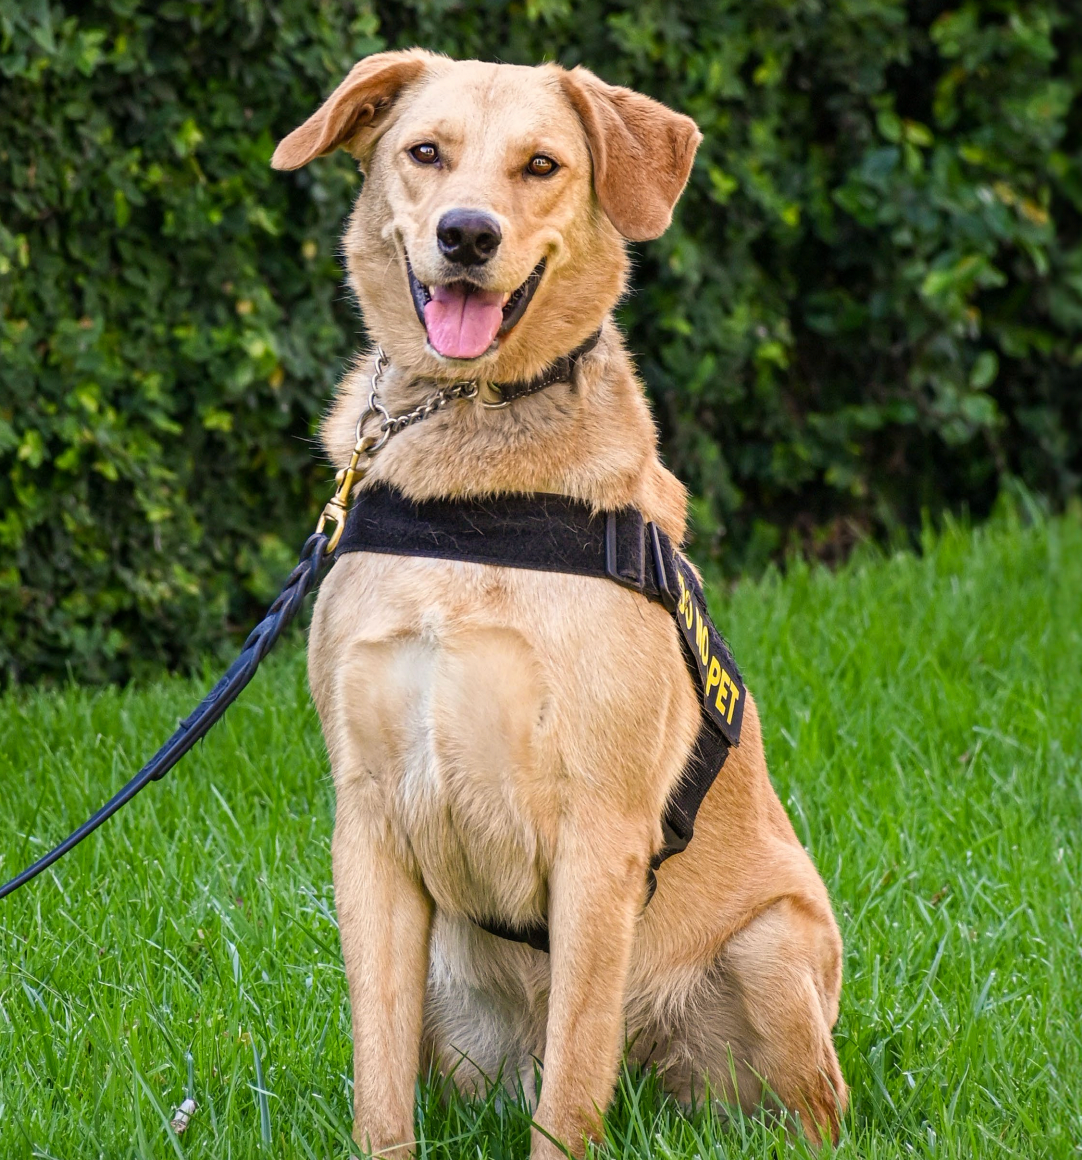
M 705 1080 L 745 1111 L 778 1103 L 813 1143 L 836 1141 L 847 1102 L 830 1036 L 841 970 L 833 919 L 793 899 L 775 902 L 725 943 L 689 996 L 654 1057 L 666 1086 L 690 1102 Z

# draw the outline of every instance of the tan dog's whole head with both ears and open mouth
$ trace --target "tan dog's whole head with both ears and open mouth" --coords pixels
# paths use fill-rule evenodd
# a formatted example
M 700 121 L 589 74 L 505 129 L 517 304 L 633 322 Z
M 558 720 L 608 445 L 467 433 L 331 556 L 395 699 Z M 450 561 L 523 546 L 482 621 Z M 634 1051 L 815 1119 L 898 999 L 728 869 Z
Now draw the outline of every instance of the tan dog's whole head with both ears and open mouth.
M 624 239 L 668 227 L 699 139 L 584 68 L 409 50 L 357 64 L 273 165 L 348 148 L 365 181 L 344 248 L 373 336 L 427 374 L 500 379 L 597 328 Z

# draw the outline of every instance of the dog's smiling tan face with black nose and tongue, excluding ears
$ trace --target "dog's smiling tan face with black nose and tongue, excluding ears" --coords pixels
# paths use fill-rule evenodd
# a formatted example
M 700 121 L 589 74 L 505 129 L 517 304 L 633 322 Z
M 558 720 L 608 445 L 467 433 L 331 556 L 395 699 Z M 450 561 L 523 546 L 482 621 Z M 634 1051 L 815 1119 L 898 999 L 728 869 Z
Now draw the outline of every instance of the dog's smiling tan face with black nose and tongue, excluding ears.
M 590 212 L 582 128 L 544 71 L 433 70 L 373 150 L 369 176 L 350 259 L 363 268 L 366 225 L 378 222 L 437 357 L 492 358 L 542 316 L 551 326 L 584 295 L 619 290 L 622 247 Z

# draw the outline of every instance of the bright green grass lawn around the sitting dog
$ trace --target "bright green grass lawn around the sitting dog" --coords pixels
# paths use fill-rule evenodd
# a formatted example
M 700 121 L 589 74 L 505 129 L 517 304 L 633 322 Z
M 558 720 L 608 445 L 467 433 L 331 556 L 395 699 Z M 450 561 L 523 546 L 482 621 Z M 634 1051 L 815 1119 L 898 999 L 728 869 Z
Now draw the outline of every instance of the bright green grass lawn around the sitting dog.
M 950 528 L 716 606 L 845 938 L 842 1157 L 1082 1152 L 1082 520 Z M 0 876 L 108 797 L 199 682 L 0 701 Z M 332 791 L 300 650 L 0 904 L 0 1155 L 349 1154 Z M 191 1126 L 166 1128 L 188 1085 Z M 514 1102 L 423 1086 L 426 1157 L 517 1157 Z M 774 1157 L 625 1074 L 607 1155 Z

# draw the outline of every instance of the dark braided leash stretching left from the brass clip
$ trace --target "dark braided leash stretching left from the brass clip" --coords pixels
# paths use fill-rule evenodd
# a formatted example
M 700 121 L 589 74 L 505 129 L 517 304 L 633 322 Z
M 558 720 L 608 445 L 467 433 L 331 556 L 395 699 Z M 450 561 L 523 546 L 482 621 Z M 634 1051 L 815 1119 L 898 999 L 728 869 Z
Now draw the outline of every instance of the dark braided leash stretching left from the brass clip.
M 88 818 L 77 831 L 68 834 L 59 846 L 38 858 L 34 865 L 27 867 L 22 873 L 0 886 L 0 899 L 19 890 L 20 886 L 48 870 L 58 858 L 77 847 L 83 838 L 93 834 L 103 822 L 108 821 L 122 805 L 126 805 L 140 790 L 151 782 L 162 777 L 180 761 L 181 757 L 198 741 L 206 737 L 211 727 L 240 696 L 245 686 L 255 676 L 260 662 L 274 647 L 285 626 L 300 610 L 305 596 L 312 590 L 327 554 L 331 537 L 317 531 L 306 541 L 297 567 L 290 573 L 285 587 L 277 600 L 267 610 L 267 615 L 252 630 L 237 660 L 230 665 L 220 681 L 206 694 L 195 710 L 176 727 L 176 732 L 154 754 L 153 757 L 136 774 L 135 777 L 114 797 L 111 797 L 92 818 Z

